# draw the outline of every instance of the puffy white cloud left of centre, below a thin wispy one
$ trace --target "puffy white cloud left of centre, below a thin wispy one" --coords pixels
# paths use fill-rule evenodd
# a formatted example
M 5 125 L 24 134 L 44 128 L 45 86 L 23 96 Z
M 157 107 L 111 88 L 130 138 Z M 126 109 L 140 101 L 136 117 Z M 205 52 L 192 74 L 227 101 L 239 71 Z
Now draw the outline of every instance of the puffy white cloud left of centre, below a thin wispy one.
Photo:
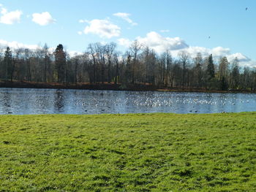
M 99 37 L 106 37 L 108 39 L 120 36 L 121 28 L 109 20 L 94 19 L 87 21 L 87 23 L 89 23 L 89 26 L 86 26 L 83 30 L 84 34 L 97 34 Z

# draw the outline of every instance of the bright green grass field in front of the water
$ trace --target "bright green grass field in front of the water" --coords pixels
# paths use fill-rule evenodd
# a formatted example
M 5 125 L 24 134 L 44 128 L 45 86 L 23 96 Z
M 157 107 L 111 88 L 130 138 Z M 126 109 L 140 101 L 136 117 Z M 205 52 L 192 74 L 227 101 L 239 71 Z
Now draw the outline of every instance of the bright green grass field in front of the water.
M 256 191 L 256 112 L 0 115 L 0 191 Z

